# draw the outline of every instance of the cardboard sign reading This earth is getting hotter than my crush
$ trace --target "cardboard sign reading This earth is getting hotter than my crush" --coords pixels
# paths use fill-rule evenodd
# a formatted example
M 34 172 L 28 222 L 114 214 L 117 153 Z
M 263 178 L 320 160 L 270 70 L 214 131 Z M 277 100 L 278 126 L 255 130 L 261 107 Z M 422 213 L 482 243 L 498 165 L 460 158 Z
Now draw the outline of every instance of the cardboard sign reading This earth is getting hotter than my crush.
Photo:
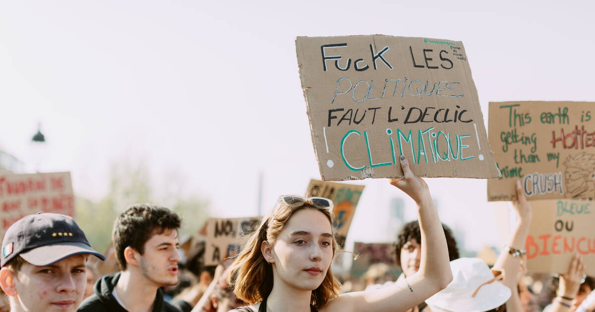
M 491 102 L 490 144 L 502 178 L 488 200 L 595 197 L 595 102 Z M 593 111 L 593 112 L 591 112 Z

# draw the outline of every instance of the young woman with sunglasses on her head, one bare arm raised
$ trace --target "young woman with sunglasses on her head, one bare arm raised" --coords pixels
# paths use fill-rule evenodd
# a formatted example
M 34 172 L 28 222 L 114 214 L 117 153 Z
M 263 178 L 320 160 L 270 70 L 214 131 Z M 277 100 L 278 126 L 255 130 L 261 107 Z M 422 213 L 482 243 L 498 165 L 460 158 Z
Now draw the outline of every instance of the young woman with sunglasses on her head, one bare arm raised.
M 234 292 L 252 304 L 233 311 L 406 311 L 445 288 L 452 273 L 430 191 L 404 157 L 401 165 L 405 177 L 390 183 L 418 204 L 424 245 L 418 273 L 392 287 L 339 295 L 340 283 L 331 272 L 337 251 L 333 203 L 321 197 L 281 196 L 231 269 Z

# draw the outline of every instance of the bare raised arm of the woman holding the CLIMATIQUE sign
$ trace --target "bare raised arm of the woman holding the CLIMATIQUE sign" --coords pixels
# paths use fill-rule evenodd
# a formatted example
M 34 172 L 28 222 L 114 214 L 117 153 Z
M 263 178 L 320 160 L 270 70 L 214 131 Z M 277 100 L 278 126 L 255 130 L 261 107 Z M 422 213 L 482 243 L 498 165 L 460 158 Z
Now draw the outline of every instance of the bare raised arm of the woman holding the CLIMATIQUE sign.
M 438 218 L 428 185 L 414 175 L 409 162 L 401 157 L 403 175 L 392 179 L 396 186 L 417 203 L 421 230 L 419 270 L 403 282 L 373 291 L 350 292 L 328 302 L 323 311 L 407 311 L 439 292 L 452 281 L 452 271 L 444 229 Z

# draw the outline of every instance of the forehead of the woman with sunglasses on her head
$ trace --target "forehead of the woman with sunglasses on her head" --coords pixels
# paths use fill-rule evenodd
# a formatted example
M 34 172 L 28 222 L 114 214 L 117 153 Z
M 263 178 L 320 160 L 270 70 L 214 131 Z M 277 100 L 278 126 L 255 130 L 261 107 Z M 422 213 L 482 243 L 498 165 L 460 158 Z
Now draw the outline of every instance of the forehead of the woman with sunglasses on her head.
M 300 209 L 293 213 L 283 226 L 283 233 L 309 232 L 311 235 L 321 235 L 333 232 L 333 227 L 324 213 L 317 209 Z

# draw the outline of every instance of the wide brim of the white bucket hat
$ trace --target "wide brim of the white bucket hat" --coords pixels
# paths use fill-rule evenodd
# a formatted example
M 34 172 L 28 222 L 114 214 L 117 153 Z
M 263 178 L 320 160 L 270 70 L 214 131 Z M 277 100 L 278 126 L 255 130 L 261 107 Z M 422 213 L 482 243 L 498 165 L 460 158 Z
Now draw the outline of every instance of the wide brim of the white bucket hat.
M 428 305 L 440 308 L 436 311 L 482 312 L 505 304 L 511 297 L 511 289 L 500 282 L 493 282 L 481 286 L 475 297 L 453 298 L 450 296 L 441 297 L 438 294 L 425 300 Z

